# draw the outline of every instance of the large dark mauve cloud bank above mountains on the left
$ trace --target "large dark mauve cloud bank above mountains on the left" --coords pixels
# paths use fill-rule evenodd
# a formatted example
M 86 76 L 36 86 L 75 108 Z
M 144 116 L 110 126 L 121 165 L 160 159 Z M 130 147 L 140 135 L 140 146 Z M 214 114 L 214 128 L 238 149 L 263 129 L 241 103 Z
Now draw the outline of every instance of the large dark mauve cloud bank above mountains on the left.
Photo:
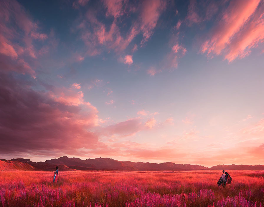
M 34 91 L 28 81 L 4 74 L 0 82 L 1 153 L 75 153 L 80 146 L 104 145 L 90 131 L 98 122 L 94 106 L 57 100 L 60 95 Z

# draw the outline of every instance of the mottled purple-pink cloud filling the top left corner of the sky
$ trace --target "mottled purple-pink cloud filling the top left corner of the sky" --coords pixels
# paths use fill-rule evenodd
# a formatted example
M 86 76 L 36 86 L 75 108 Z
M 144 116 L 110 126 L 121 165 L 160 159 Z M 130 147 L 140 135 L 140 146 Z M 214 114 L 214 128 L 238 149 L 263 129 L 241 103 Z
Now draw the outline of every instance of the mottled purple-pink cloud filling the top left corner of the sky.
M 47 35 L 40 32 L 38 24 L 27 15 L 23 6 L 17 1 L 0 2 L 0 59 L 1 68 L 5 71 L 16 71 L 35 77 L 36 61 L 43 50 L 38 51 L 34 40 L 47 39 Z M 38 47 L 41 46 L 38 43 Z M 48 43 L 49 44 L 49 43 Z M 48 44 L 46 47 L 47 50 Z M 42 48 L 43 49 L 43 48 Z

